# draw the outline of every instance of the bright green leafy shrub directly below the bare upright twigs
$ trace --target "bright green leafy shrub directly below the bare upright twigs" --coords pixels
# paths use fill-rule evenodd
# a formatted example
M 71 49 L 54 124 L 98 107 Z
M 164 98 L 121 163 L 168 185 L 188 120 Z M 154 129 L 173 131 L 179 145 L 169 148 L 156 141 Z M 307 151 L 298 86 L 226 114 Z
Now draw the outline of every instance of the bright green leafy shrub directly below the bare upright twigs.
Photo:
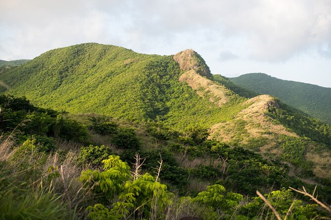
M 149 174 L 144 174 L 135 181 L 128 181 L 119 194 L 119 201 L 112 209 L 96 204 L 87 208 L 88 217 L 93 220 L 119 220 L 135 216 L 139 219 L 149 219 L 154 215 L 161 217 L 167 205 L 171 204 L 172 194 L 167 192 L 167 186 Z

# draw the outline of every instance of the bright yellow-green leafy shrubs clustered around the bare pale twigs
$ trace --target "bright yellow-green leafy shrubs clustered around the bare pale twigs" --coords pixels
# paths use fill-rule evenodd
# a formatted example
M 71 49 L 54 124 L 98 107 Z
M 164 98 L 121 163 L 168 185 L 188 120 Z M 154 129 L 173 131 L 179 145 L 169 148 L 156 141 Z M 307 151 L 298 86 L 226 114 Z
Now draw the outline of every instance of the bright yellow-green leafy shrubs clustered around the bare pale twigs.
M 112 209 L 105 208 L 102 204 L 89 206 L 89 218 L 116 220 L 142 213 L 148 218 L 151 213 L 161 215 L 166 206 L 172 202 L 172 193 L 167 191 L 165 184 L 156 182 L 150 174 L 144 174 L 135 181 L 130 179 L 130 167 L 120 160 L 119 156 L 110 155 L 103 160 L 104 171 L 87 170 L 82 172 L 80 180 L 95 193 L 103 193 L 107 198 L 115 196 L 118 202 Z

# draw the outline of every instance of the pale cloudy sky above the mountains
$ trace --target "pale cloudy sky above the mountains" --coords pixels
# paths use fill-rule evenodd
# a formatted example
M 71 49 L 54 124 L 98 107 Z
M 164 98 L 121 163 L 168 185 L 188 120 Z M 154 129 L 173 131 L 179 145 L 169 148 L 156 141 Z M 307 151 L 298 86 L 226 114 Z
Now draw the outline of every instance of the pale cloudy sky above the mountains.
M 84 42 L 331 87 L 331 0 L 0 0 L 0 59 Z

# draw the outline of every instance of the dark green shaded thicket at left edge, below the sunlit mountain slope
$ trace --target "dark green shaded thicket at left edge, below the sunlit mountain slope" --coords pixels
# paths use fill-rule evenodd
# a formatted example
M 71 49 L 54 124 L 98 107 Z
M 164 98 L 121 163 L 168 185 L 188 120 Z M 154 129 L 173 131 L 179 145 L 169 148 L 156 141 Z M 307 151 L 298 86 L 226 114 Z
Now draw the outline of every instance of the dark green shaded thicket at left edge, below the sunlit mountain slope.
M 10 133 L 16 129 L 20 136 L 34 135 L 44 145 L 44 151 L 54 149 L 52 141 L 47 140 L 46 136 L 76 142 L 85 142 L 88 137 L 86 126 L 82 123 L 64 118 L 54 110 L 35 107 L 25 97 L 0 95 L 0 109 L 0 132 Z

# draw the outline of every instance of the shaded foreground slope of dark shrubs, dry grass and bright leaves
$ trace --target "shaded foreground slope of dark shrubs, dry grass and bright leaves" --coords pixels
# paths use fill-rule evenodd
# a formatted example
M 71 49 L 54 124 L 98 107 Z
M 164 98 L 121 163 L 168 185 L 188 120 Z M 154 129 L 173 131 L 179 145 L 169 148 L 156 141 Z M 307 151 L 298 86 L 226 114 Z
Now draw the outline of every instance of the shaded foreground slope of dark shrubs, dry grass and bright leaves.
M 0 107 L 1 219 L 276 218 L 256 190 L 283 219 L 329 215 L 289 189 L 315 186 L 289 177 L 281 161 L 207 140 L 201 127 L 98 115 L 82 123 L 4 95 Z M 320 200 L 330 203 L 330 188 L 317 186 Z

